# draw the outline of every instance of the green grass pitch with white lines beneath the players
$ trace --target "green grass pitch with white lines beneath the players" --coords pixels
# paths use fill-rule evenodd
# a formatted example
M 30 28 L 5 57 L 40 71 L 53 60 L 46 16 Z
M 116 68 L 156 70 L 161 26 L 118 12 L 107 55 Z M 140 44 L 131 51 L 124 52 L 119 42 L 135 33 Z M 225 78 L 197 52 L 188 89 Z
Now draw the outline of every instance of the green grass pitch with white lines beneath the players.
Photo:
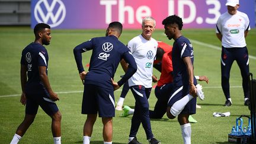
M 191 143 L 228 143 L 228 133 L 235 125 L 235 120 L 241 114 L 249 115 L 248 107 L 244 106 L 242 78 L 238 65 L 233 63 L 231 69 L 231 97 L 233 105 L 223 107 L 225 96 L 220 85 L 220 41 L 215 36 L 214 29 L 184 29 L 183 35 L 191 40 L 194 47 L 194 73 L 206 75 L 209 84 L 200 82 L 206 95 L 204 101 L 198 99 L 201 109 L 193 115 L 198 123 L 192 123 Z M 141 30 L 123 30 L 120 40 L 126 44 Z M 82 129 L 86 119 L 81 114 L 83 85 L 79 79 L 73 57 L 73 48 L 92 37 L 105 36 L 105 30 L 55 30 L 52 29 L 52 41 L 46 46 L 49 53 L 49 80 L 53 91 L 58 92 L 60 101 L 57 105 L 62 113 L 62 143 L 82 143 Z M 171 44 L 163 29 L 155 30 L 156 40 Z M 256 30 L 249 31 L 247 47 L 249 50 L 250 72 L 256 77 Z M 0 27 L 0 143 L 11 142 L 18 124 L 24 119 L 24 106 L 20 104 L 20 57 L 21 50 L 34 41 L 33 30 L 29 27 Z M 83 54 L 83 63 L 89 63 L 91 52 Z M 116 72 L 116 81 L 123 75 L 121 66 Z M 154 70 L 156 76 L 160 73 Z M 116 100 L 121 88 L 114 92 Z M 155 105 L 155 95 L 152 90 L 149 99 L 150 109 Z M 131 92 L 127 94 L 124 105 L 133 107 L 135 100 Z M 231 112 L 229 117 L 213 117 L 213 112 Z M 113 119 L 113 143 L 127 143 L 131 116 L 120 117 L 121 111 L 116 111 Z M 34 123 L 27 130 L 20 143 L 53 143 L 50 129 L 50 117 L 41 108 Z M 244 125 L 248 126 L 247 119 Z M 162 143 L 183 143 L 180 125 L 177 119 L 169 120 L 164 116 L 161 120 L 151 120 L 152 131 Z M 103 124 L 97 119 L 92 133 L 91 143 L 103 143 Z M 145 132 L 140 126 L 137 139 L 148 143 Z

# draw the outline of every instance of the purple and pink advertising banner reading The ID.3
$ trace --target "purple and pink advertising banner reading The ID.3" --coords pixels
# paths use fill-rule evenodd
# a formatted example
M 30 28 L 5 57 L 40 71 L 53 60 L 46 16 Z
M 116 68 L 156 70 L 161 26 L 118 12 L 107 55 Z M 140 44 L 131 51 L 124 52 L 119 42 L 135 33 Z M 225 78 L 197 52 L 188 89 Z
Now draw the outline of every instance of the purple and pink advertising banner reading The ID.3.
M 251 28 L 255 27 L 255 1 L 240 0 Z M 169 15 L 183 18 L 184 28 L 215 28 L 227 11 L 226 0 L 32 0 L 31 27 L 47 23 L 52 28 L 106 28 L 119 21 L 124 28 L 140 28 L 142 18 L 152 16 L 156 28 Z

